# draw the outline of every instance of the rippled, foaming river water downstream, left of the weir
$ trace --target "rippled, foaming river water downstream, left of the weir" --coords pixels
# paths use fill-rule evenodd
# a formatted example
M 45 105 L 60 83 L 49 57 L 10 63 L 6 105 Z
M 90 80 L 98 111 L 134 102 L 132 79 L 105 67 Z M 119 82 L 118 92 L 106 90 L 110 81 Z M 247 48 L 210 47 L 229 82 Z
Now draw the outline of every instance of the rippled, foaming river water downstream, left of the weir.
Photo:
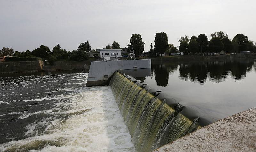
M 111 88 L 80 72 L 0 77 L 0 151 L 134 151 Z

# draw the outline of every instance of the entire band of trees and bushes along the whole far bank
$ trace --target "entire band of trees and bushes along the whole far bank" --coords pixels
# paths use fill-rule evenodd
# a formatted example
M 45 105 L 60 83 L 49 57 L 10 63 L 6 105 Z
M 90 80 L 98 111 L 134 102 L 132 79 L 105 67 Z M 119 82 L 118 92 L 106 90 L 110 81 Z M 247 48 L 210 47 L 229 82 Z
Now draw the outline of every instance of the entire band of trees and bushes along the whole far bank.
M 169 44 L 168 36 L 165 32 L 158 32 L 155 35 L 154 45 L 150 43 L 150 49 L 148 52 L 144 52 L 144 42 L 140 34 L 132 34 L 130 38 L 130 43 L 127 44 L 127 53 L 133 47 L 135 56 L 142 56 L 145 53 L 148 57 L 159 57 L 159 56 L 170 56 L 173 54 L 183 54 L 183 55 L 215 55 L 215 54 L 226 54 L 226 53 L 240 53 L 241 51 L 256 51 L 253 41 L 250 41 L 248 37 L 244 34 L 237 34 L 232 38 L 228 37 L 228 34 L 222 31 L 214 32 L 209 35 L 209 38 L 205 34 L 199 34 L 198 36 L 188 35 L 181 37 L 179 40 L 180 45 L 175 47 L 173 44 Z M 107 45 L 104 49 L 120 49 L 120 45 L 117 41 L 114 41 L 112 46 Z M 3 47 L 0 50 L 0 56 L 17 56 L 17 57 L 40 57 L 40 58 L 50 58 L 54 56 L 57 60 L 74 60 L 74 61 L 84 61 L 88 59 L 88 52 L 96 52 L 91 50 L 91 45 L 89 41 L 80 43 L 77 50 L 68 51 L 60 47 L 57 44 L 53 47 L 52 51 L 49 47 L 41 45 L 39 48 L 34 49 L 32 52 L 26 50 L 23 52 L 18 52 L 12 48 Z M 65 56 L 65 57 L 64 57 Z

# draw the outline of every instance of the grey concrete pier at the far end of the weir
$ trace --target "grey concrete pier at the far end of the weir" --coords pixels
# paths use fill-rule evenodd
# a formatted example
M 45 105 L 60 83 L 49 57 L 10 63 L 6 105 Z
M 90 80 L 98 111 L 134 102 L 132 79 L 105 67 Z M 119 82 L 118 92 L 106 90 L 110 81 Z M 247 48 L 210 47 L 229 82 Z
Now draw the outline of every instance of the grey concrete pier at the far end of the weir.
M 108 85 L 116 70 L 151 68 L 151 60 L 110 60 L 91 62 L 87 86 Z

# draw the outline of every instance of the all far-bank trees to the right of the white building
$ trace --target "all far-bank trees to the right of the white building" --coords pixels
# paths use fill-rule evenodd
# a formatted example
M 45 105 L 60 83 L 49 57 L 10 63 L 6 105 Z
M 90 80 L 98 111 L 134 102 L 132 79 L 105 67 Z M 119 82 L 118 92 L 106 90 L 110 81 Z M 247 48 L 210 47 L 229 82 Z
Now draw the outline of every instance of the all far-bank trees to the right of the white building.
M 179 48 L 174 47 L 173 44 L 168 43 L 168 36 L 165 32 L 158 32 L 155 35 L 154 46 L 150 43 L 150 49 L 148 57 L 159 57 L 159 54 L 167 53 L 240 53 L 241 51 L 255 51 L 255 45 L 253 41 L 248 40 L 248 37 L 244 34 L 237 34 L 232 40 L 228 38 L 228 34 L 222 31 L 214 32 L 209 35 L 210 40 L 205 34 L 198 36 L 192 36 L 190 39 L 187 35 L 181 37 Z M 128 53 L 133 46 L 136 56 L 140 56 L 144 52 L 144 42 L 142 41 L 140 34 L 132 34 L 130 44 L 127 44 Z

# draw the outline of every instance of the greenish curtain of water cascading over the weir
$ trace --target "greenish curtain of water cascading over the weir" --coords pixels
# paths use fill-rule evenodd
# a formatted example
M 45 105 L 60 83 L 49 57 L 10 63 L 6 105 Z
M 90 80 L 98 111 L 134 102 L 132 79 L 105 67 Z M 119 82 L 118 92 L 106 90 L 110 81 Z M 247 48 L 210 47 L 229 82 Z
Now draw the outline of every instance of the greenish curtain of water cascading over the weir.
M 145 84 L 116 71 L 110 80 L 112 92 L 138 151 L 152 151 L 198 128 L 198 118 L 190 120 L 150 93 Z

